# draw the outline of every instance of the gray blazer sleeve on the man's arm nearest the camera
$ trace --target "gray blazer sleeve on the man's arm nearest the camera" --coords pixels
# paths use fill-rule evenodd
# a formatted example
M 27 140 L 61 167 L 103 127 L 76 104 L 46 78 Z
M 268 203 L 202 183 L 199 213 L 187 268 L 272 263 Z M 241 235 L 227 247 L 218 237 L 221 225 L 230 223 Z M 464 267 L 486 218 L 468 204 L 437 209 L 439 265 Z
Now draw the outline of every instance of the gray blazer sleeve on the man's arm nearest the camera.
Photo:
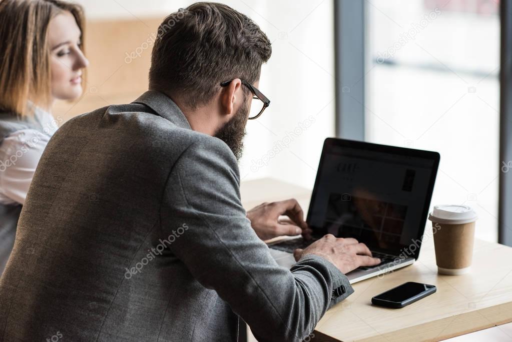
M 220 139 L 191 144 L 169 173 L 161 229 L 177 227 L 186 230 L 169 248 L 258 340 L 303 340 L 329 307 L 353 292 L 321 257 L 302 258 L 291 270 L 276 264 L 246 218 L 237 161 Z

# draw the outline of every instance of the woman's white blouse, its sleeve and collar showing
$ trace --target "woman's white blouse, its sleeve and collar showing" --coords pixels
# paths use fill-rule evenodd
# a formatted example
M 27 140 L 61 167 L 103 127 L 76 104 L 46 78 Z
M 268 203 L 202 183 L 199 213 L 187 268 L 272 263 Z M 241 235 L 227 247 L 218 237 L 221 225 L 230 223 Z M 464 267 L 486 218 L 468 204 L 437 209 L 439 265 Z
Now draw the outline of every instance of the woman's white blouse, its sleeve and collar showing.
M 58 125 L 53 116 L 39 108 L 35 117 L 45 133 L 34 129 L 19 130 L 0 144 L 0 203 L 25 203 L 32 177 L 50 136 Z M 48 136 L 50 135 L 50 136 Z

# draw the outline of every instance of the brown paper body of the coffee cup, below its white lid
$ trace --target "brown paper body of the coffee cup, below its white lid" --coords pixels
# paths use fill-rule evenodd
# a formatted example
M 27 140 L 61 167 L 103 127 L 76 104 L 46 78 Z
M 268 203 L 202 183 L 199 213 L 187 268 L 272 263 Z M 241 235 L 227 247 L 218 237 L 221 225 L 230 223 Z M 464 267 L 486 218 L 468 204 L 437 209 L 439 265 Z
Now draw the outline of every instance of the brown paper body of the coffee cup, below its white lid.
M 470 271 L 475 222 L 447 224 L 432 219 L 432 229 L 438 273 L 459 275 Z

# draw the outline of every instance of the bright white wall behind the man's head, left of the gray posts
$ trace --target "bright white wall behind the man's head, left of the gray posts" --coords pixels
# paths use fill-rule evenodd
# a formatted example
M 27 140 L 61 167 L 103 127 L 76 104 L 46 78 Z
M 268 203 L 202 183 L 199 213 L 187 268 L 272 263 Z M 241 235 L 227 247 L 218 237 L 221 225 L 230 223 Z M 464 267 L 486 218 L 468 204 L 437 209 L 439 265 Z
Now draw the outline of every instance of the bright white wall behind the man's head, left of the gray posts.
M 89 19 L 163 17 L 193 2 L 79 0 Z M 259 89 L 271 100 L 247 124 L 243 180 L 280 178 L 312 187 L 323 140 L 334 135 L 333 3 L 222 1 L 250 16 L 272 42 Z M 122 38 L 121 38 L 122 39 Z

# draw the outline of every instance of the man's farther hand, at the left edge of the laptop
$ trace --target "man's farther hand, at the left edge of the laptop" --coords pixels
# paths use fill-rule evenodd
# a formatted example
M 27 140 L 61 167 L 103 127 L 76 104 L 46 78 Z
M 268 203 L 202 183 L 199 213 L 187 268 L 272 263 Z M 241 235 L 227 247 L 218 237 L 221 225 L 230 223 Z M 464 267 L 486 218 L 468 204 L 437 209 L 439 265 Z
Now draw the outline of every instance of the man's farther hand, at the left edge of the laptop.
M 286 215 L 289 220 L 279 220 Z M 304 221 L 304 212 L 297 200 L 263 203 L 247 211 L 252 229 L 265 241 L 275 237 L 303 234 L 304 239 L 311 239 L 311 229 Z

